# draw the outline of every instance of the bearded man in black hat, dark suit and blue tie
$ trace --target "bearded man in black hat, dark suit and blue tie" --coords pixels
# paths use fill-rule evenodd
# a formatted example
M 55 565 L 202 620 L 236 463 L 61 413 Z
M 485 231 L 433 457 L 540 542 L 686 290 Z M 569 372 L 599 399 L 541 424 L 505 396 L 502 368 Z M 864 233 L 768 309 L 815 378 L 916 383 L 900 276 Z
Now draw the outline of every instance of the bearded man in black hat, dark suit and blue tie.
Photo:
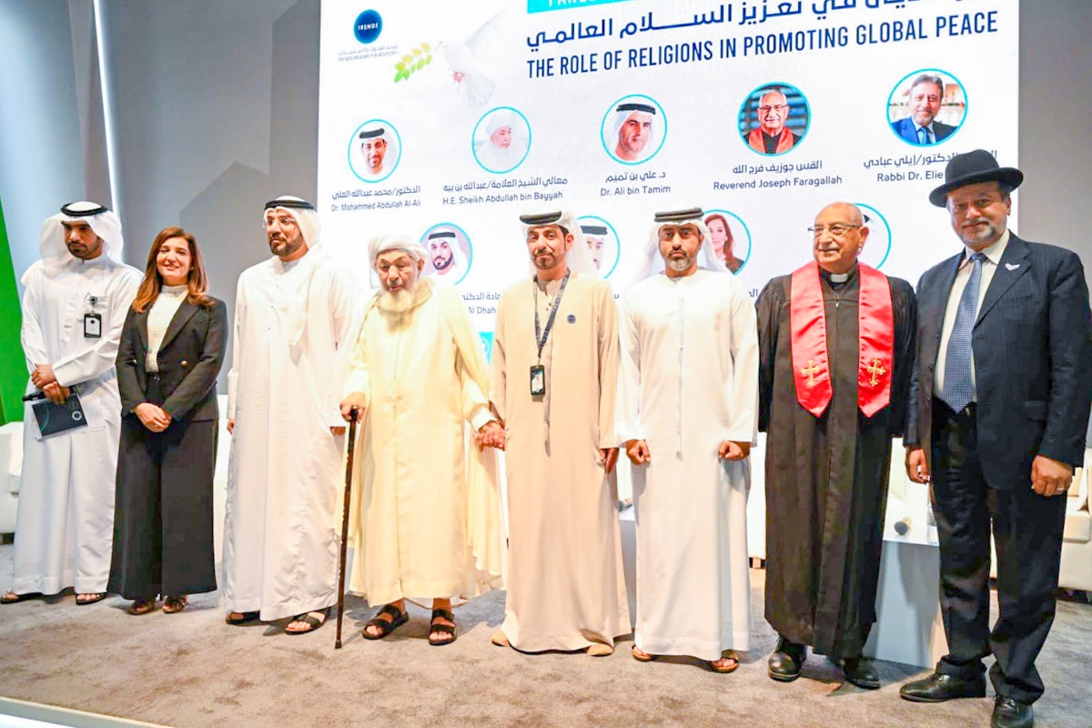
M 918 383 L 906 434 L 912 480 L 931 482 L 949 653 L 901 695 L 986 694 L 992 725 L 1034 725 L 1035 657 L 1054 621 L 1064 498 L 1092 407 L 1092 314 L 1080 259 L 1007 227 L 1023 174 L 976 150 L 929 194 L 965 248 L 917 286 Z M 931 478 L 930 478 L 931 475 Z M 989 630 L 990 523 L 1000 617 Z

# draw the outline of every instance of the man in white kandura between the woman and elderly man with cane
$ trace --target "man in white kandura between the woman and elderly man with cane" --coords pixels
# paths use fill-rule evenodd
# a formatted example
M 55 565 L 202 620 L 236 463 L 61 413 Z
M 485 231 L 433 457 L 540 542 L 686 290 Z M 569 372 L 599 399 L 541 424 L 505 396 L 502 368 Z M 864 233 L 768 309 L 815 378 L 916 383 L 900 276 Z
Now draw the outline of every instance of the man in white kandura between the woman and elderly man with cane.
M 341 394 L 356 341 L 352 275 L 321 249 L 311 203 L 265 203 L 273 256 L 239 276 L 224 520 L 227 623 L 294 617 L 317 630 L 336 598 Z

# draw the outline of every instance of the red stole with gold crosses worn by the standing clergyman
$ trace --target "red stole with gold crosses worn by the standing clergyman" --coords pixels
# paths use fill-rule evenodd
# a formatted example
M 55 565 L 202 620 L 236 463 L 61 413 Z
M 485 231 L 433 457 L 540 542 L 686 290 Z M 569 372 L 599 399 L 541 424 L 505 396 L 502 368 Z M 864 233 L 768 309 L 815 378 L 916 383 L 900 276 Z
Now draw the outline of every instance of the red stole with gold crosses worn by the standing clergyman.
M 857 305 L 857 406 L 871 417 L 891 402 L 894 365 L 894 314 L 887 276 L 857 264 L 860 298 Z M 808 263 L 793 273 L 788 302 L 792 332 L 793 380 L 800 406 L 816 417 L 833 394 L 827 351 L 827 317 L 819 285 L 819 265 Z

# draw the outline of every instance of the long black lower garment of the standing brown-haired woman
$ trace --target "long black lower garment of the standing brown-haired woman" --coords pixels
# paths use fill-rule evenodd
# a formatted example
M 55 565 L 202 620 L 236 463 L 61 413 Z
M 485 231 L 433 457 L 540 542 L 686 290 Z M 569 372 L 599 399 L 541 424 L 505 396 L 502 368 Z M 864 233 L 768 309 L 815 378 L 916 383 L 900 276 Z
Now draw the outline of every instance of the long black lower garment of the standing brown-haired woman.
M 216 588 L 212 481 L 216 422 L 152 432 L 121 418 L 108 590 L 128 599 Z

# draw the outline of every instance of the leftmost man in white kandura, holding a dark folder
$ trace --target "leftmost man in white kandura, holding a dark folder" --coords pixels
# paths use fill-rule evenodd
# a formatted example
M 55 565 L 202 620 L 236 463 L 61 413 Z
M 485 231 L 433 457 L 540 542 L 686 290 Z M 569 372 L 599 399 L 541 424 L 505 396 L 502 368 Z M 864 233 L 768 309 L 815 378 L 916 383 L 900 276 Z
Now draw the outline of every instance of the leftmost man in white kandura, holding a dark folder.
M 41 225 L 41 260 L 23 275 L 26 393 L 37 398 L 23 416 L 12 584 L 0 602 L 69 586 L 81 606 L 106 596 L 121 433 L 114 360 L 141 282 L 121 262 L 122 244 L 117 215 L 73 202 Z M 86 425 L 43 435 L 35 408 L 76 401 Z

